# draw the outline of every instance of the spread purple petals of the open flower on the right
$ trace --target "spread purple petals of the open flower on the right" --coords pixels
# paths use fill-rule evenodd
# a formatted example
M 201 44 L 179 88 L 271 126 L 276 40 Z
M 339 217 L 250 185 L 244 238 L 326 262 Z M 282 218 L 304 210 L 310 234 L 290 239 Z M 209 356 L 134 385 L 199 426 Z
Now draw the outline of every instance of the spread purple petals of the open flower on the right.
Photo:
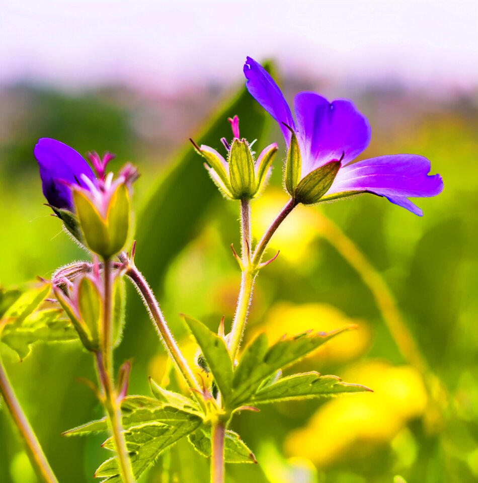
M 337 166 L 321 202 L 372 193 L 422 216 L 408 197 L 436 196 L 443 190 L 441 176 L 428 175 L 430 161 L 417 154 L 379 156 L 351 164 L 370 141 L 370 125 L 351 101 L 329 102 L 316 93 L 300 92 L 294 99 L 295 122 L 277 84 L 260 64 L 248 57 L 244 73 L 248 91 L 279 123 L 287 147 L 294 135 L 297 139 L 298 182 L 326 165 Z

